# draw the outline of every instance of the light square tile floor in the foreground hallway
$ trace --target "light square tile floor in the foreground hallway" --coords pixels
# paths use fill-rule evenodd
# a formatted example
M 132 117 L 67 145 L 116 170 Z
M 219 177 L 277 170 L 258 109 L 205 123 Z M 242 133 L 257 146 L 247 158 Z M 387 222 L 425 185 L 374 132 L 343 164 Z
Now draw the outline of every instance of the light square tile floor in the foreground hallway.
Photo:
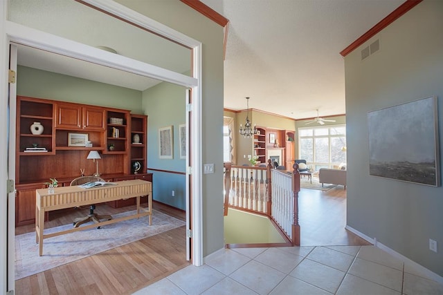
M 225 249 L 135 294 L 443 294 L 374 246 Z

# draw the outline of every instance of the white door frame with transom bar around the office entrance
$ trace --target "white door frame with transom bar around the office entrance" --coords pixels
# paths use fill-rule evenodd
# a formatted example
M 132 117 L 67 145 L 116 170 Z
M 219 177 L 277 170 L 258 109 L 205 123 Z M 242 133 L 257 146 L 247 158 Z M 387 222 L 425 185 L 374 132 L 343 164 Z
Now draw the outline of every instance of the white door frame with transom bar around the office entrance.
M 177 84 L 180 86 L 185 86 L 192 89 L 192 115 L 190 117 L 190 124 L 192 129 L 190 131 L 190 144 L 192 145 L 192 156 L 190 165 L 192 167 L 192 178 L 191 178 L 191 190 L 192 190 L 192 216 L 190 218 L 192 225 L 188 225 L 188 228 L 192 228 L 192 263 L 196 266 L 203 264 L 203 238 L 202 238 L 202 175 L 201 175 L 201 42 L 196 41 L 186 35 L 181 34 L 171 28 L 164 26 L 161 23 L 153 21 L 138 12 L 129 10 L 125 6 L 121 6 L 118 3 L 108 0 L 87 0 L 85 2 L 90 3 L 92 6 L 96 6 L 102 10 L 110 12 L 112 15 L 117 15 L 122 19 L 126 19 L 129 22 L 136 23 L 138 26 L 143 26 L 147 30 L 156 32 L 161 36 L 168 37 L 174 41 L 177 41 L 183 46 L 192 48 L 192 77 L 186 75 L 181 75 L 179 73 L 172 72 L 171 70 L 166 70 L 164 68 L 159 68 L 157 66 L 152 66 L 150 64 L 145 64 L 141 61 L 136 61 L 134 59 L 129 59 L 128 57 L 123 57 L 120 55 L 114 55 L 112 53 L 104 52 L 98 48 L 93 48 L 84 44 L 80 44 L 69 39 L 64 39 L 62 37 L 57 37 L 55 35 L 48 34 L 33 28 L 28 28 L 26 26 L 21 26 L 17 23 L 13 23 L 6 20 L 7 14 L 7 2 L 3 1 L 3 6 L 0 7 L 0 117 L 7 118 L 6 110 L 8 109 L 8 82 L 7 82 L 7 69 L 9 60 L 9 44 L 11 41 L 17 42 L 19 44 L 24 44 L 28 46 L 33 46 L 42 50 L 47 50 L 53 53 L 59 53 L 62 55 L 67 55 L 69 57 L 74 57 L 77 59 L 82 59 L 85 61 L 91 61 L 96 64 L 101 64 L 104 66 L 109 66 L 111 68 L 117 68 L 119 70 L 125 70 L 130 73 L 136 73 L 138 75 L 143 75 L 146 77 L 152 77 L 154 79 L 159 79 L 161 81 L 170 82 L 172 84 Z M 10 110 L 11 113 L 15 113 L 15 110 Z M 8 136 L 8 130 L 6 130 L 7 122 L 0 124 L 3 126 L 0 128 L 0 136 L 6 138 Z M 9 134 L 12 138 L 12 142 L 15 145 L 15 134 Z M 15 150 L 15 149 L 14 149 Z M 8 157 L 6 151 L 0 153 L 0 160 L 5 160 Z M 187 169 L 190 171 L 191 169 Z M 187 173 L 188 174 L 188 173 Z M 6 167 L 1 168 L 0 175 L 3 180 L 8 178 Z M 187 179 L 189 175 L 187 176 Z M 0 183 L 0 189 L 3 192 L 6 191 L 5 181 Z M 186 195 L 188 196 L 188 191 Z M 2 196 L 3 195 L 3 196 Z M 2 203 L 5 204 L 6 196 L 4 193 L 0 195 Z M 0 206 L 0 216 L 1 221 L 6 221 L 6 209 L 5 206 Z M 4 212 L 3 212 L 4 211 Z M 4 213 L 4 214 L 3 214 Z M 8 220 L 15 222 L 15 212 L 11 212 L 8 216 Z M 2 225 L 6 225 L 6 222 L 0 222 Z M 6 245 L 7 241 L 7 231 L 6 227 L 1 226 L 0 228 L 0 245 Z M 6 249 L 3 249 L 0 254 L 0 285 L 6 286 L 8 281 L 8 271 L 6 269 Z M 15 251 L 15 249 L 10 249 L 10 251 Z M 13 263 L 13 262 L 12 262 Z M 9 274 L 9 276 L 14 276 L 14 274 Z M 13 286 L 9 287 L 13 289 Z M 1 290 L 1 292 L 6 292 L 8 290 Z

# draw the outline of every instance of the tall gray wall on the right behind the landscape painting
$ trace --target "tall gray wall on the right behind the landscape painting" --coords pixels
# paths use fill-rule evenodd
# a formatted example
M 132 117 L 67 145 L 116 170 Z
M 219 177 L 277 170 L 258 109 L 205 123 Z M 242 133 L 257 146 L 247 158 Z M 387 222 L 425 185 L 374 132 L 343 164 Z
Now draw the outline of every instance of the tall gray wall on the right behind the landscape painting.
M 442 29 L 443 1 L 423 1 L 345 57 L 347 225 L 440 276 L 443 188 L 370 176 L 367 113 L 435 95 L 441 146 Z M 380 50 L 361 61 L 361 50 L 377 39 Z

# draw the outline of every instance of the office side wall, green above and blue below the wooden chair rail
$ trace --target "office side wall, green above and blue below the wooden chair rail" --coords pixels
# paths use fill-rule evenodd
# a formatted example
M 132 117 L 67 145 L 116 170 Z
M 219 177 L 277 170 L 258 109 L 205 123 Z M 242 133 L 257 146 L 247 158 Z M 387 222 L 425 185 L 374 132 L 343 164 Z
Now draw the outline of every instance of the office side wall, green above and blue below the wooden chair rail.
M 186 88 L 168 83 L 158 84 L 143 92 L 143 109 L 148 115 L 148 169 L 154 173 L 153 198 L 173 207 L 186 209 L 186 160 L 180 159 L 179 125 L 186 122 Z M 159 128 L 173 127 L 174 156 L 159 158 Z M 174 191 L 174 196 L 172 196 Z

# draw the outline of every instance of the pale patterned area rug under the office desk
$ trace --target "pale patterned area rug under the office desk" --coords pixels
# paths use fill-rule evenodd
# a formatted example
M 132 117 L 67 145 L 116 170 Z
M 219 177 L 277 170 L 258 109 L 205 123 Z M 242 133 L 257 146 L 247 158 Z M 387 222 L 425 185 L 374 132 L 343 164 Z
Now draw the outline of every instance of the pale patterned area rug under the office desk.
M 114 215 L 114 218 L 134 214 L 128 211 Z M 160 211 L 152 211 L 152 225 L 147 217 L 124 220 L 62 236 L 47 238 L 43 244 L 43 256 L 39 256 L 39 245 L 35 242 L 35 231 L 15 236 L 15 279 L 25 278 L 45 270 L 71 263 L 75 260 L 98 254 L 129 242 L 161 234 L 186 225 L 186 222 Z M 45 229 L 49 234 L 71 229 L 72 224 Z

